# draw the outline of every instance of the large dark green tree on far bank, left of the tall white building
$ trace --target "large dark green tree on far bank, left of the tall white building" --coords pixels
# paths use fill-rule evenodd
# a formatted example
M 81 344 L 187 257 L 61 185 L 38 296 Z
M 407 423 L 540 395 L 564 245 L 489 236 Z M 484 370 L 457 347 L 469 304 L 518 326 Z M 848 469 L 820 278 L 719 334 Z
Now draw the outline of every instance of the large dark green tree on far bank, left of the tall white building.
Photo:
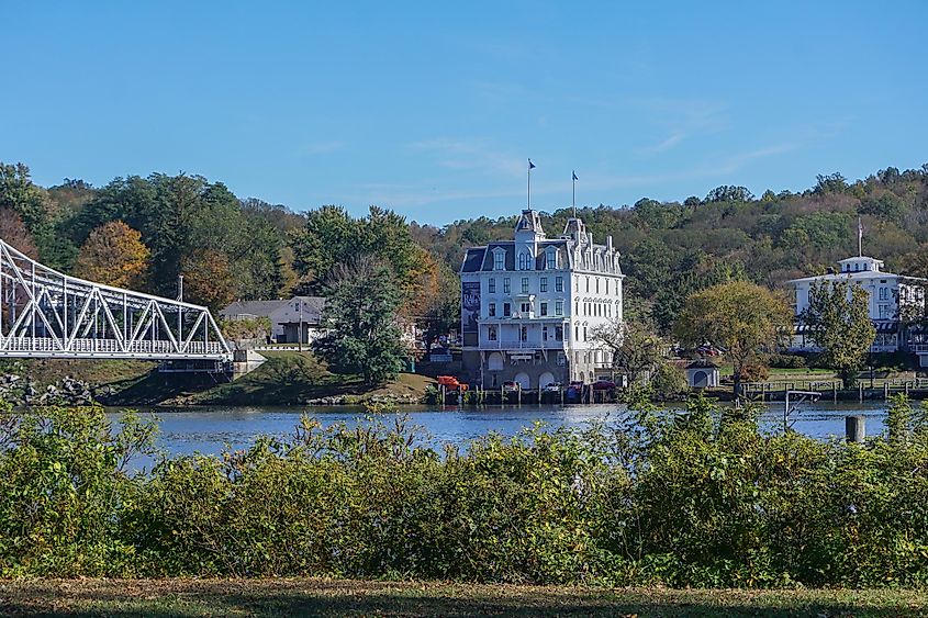
M 334 269 L 327 292 L 322 316 L 327 333 L 313 341 L 313 350 L 338 373 L 360 373 L 368 386 L 395 378 L 407 352 L 390 267 L 371 256 L 356 258 Z

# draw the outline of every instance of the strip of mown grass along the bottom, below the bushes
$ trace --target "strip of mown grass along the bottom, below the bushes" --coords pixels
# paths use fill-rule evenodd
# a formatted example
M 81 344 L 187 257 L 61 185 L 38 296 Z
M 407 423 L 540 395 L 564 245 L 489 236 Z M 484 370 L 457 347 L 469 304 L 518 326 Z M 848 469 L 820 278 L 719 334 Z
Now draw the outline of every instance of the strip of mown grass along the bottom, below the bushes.
M 701 591 L 322 578 L 9 581 L 12 616 L 924 616 L 921 591 Z

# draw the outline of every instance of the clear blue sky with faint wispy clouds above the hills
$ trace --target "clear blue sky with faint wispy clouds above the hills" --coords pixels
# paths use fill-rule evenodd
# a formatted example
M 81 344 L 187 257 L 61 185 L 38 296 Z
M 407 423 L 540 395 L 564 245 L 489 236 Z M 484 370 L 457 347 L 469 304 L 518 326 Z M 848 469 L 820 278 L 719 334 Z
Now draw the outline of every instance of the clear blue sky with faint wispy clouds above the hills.
M 433 224 L 928 161 L 928 2 L 11 2 L 0 160 Z

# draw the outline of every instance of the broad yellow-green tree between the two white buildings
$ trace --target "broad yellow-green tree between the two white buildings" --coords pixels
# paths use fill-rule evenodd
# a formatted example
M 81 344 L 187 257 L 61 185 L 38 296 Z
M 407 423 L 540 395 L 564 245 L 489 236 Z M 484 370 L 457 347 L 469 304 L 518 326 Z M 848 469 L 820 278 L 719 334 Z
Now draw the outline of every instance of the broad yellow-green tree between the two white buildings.
M 731 281 L 691 294 L 674 326 L 687 346 L 722 348 L 734 366 L 734 393 L 740 395 L 741 378 L 751 364 L 776 348 L 792 329 L 786 302 L 770 290 Z

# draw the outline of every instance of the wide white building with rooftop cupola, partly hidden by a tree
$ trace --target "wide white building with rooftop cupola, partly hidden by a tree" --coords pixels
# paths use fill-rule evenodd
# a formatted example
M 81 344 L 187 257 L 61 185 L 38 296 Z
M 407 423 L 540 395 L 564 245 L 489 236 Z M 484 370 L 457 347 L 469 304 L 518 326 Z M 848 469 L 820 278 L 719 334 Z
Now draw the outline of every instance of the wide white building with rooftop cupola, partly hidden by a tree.
M 921 342 L 918 328 L 908 327 L 908 322 L 924 315 L 925 284 L 928 280 L 885 272 L 883 261 L 859 256 L 838 262 L 838 270 L 818 277 L 793 279 L 787 283 L 795 291 L 796 317 L 805 311 L 809 302 L 809 292 L 816 283 L 831 284 L 847 281 L 865 290 L 870 296 L 870 319 L 876 328 L 873 352 L 895 352 L 906 350 L 919 355 L 919 363 L 928 363 L 928 346 Z M 795 351 L 813 351 L 815 345 L 805 333 L 803 324 L 797 322 L 796 334 L 791 348 Z

